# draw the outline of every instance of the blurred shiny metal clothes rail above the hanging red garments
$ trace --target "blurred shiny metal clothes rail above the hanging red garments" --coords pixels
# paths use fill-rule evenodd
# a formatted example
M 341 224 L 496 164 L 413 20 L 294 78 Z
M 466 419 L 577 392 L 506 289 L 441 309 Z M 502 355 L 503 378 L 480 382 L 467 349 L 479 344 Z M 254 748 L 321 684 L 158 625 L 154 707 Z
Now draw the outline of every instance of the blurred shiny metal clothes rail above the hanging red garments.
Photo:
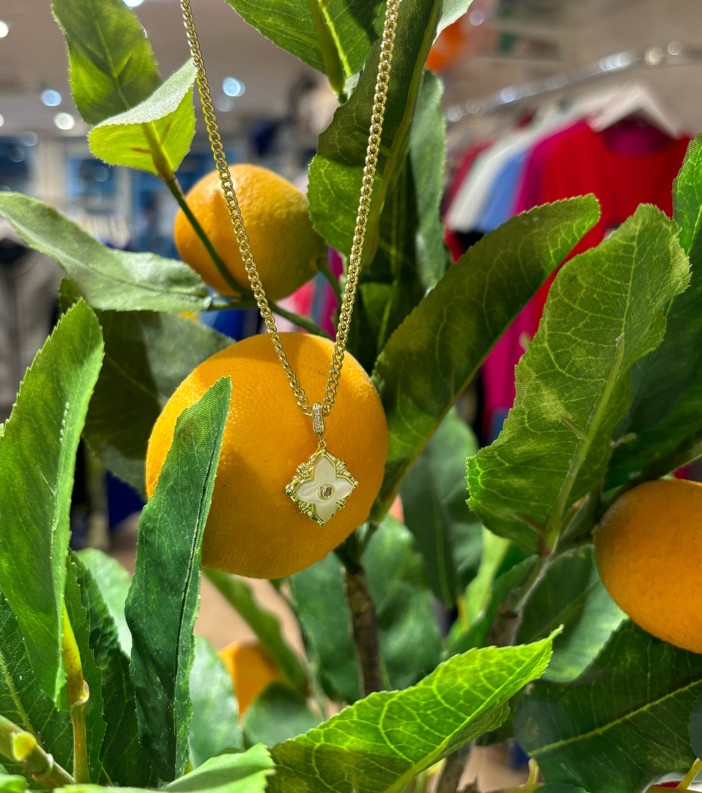
M 452 105 L 446 111 L 446 118 L 449 124 L 455 124 L 462 118 L 494 113 L 535 97 L 579 86 L 604 75 L 620 74 L 639 67 L 686 66 L 692 63 L 702 63 L 702 48 L 684 47 L 679 41 L 671 41 L 665 48 L 654 45 L 641 50 L 613 52 L 612 55 L 571 71 L 520 85 L 505 86 L 483 99 L 469 99 L 462 105 Z

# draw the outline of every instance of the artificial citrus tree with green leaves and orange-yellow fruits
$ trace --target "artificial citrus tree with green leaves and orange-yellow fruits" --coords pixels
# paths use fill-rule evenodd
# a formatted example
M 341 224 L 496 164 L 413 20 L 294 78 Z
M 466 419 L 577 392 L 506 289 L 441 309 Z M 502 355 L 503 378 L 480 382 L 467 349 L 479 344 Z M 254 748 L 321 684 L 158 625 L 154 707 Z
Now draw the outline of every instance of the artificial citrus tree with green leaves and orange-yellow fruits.
M 341 296 L 347 278 L 328 273 L 320 240 L 351 255 L 348 274 L 386 4 L 229 2 L 339 98 L 307 201 L 272 174 L 232 174 L 263 286 L 282 297 L 316 267 Z M 455 400 L 599 210 L 593 197 L 539 207 L 449 266 L 442 88 L 424 61 L 467 5 L 393 5 L 382 146 L 326 418 L 353 477 L 332 466 L 317 488 L 318 469 L 295 466 L 324 416 L 311 410 L 313 425 L 297 409 L 270 339 L 232 347 L 182 316 L 259 303 L 230 259 L 224 198 L 207 193 L 217 180 L 190 198 L 178 182 L 197 64 L 163 80 L 121 0 L 54 0 L 94 154 L 163 180 L 185 261 L 109 250 L 52 207 L 0 193 L 0 213 L 66 274 L 63 316 L 0 427 L 4 790 L 455 793 L 470 748 L 507 738 L 532 757 L 524 791 L 692 783 L 699 489 L 647 483 L 700 454 L 702 144 L 673 186 L 673 220 L 644 206 L 562 266 L 517 367 L 514 408 L 478 450 Z M 232 11 L 221 13 L 224 28 Z M 275 235 L 305 241 L 294 272 L 266 259 L 267 243 L 286 240 L 259 228 L 262 182 L 293 214 Z M 280 340 L 320 399 L 332 341 L 269 305 L 309 331 Z M 148 492 L 132 578 L 98 551 L 69 550 L 81 436 Z M 398 494 L 404 522 L 389 516 Z M 304 657 L 231 571 L 274 577 Z M 194 636 L 203 574 L 251 626 L 254 649 L 220 656 Z

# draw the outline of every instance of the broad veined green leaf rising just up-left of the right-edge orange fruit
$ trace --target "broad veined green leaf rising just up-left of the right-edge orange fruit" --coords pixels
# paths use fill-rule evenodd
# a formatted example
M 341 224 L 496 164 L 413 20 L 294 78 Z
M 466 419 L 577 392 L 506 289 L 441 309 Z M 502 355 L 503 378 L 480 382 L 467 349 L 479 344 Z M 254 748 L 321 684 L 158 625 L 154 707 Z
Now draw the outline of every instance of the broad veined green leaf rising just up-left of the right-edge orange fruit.
M 601 481 L 631 366 L 661 342 L 667 305 L 689 282 L 677 231 L 642 205 L 556 276 L 516 369 L 514 407 L 497 441 L 468 462 L 470 508 L 491 531 L 535 550 L 532 527 L 553 540 Z

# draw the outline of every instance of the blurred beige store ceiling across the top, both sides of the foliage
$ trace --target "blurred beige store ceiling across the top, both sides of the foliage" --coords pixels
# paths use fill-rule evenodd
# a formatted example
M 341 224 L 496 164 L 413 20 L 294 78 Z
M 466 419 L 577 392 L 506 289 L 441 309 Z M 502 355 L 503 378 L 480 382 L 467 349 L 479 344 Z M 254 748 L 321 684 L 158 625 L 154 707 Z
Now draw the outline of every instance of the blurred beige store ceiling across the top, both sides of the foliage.
M 496 0 L 474 2 L 478 7 Z M 192 0 L 192 4 L 213 88 L 221 86 L 227 75 L 247 87 L 243 97 L 233 100 L 232 112 L 219 113 L 224 130 L 236 128 L 244 117 L 286 113 L 290 87 L 313 71 L 275 48 L 224 0 Z M 163 76 L 170 75 L 188 55 L 178 0 L 144 0 L 136 13 L 152 40 Z M 0 114 L 5 118 L 0 134 L 35 130 L 44 136 L 59 135 L 52 119 L 57 110 L 73 107 L 63 36 L 49 0 L 0 0 L 0 19 L 10 25 L 10 34 L 0 39 Z M 447 105 L 623 48 L 665 46 L 670 40 L 702 47 L 702 0 L 512 0 L 509 13 L 484 25 L 533 40 L 547 54 L 524 56 L 524 48 L 517 48 L 517 57 L 495 56 L 488 44 L 445 75 Z M 649 70 L 645 79 L 674 105 L 691 131 L 702 129 L 702 65 Z M 63 94 L 60 108 L 41 104 L 45 88 Z M 85 128 L 78 125 L 70 134 L 83 132 Z

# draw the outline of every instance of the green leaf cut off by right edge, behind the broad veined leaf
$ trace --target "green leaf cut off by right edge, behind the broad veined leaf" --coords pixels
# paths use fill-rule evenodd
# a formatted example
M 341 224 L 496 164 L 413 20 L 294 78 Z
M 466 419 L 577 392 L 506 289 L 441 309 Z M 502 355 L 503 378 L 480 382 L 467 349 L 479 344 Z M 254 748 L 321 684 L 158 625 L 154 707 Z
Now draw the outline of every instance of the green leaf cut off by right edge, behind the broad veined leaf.
M 662 343 L 634 370 L 635 397 L 620 431 L 624 442 L 615 451 L 608 487 L 622 484 L 702 427 L 702 135 L 689 145 L 673 182 L 673 205 L 692 279 L 667 312 Z

